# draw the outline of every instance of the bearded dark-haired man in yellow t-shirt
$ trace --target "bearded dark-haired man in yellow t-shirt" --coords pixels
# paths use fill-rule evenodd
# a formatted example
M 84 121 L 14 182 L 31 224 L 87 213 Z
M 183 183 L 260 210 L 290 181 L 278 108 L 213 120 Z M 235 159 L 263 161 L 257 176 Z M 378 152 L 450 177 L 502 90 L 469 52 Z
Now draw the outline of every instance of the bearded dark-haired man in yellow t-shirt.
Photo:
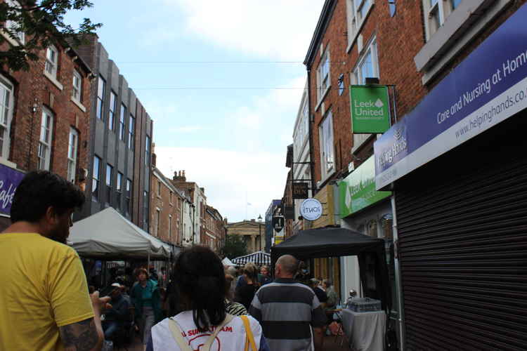
M 100 310 L 77 253 L 65 245 L 78 187 L 48 171 L 27 173 L 0 233 L 0 351 L 100 350 Z

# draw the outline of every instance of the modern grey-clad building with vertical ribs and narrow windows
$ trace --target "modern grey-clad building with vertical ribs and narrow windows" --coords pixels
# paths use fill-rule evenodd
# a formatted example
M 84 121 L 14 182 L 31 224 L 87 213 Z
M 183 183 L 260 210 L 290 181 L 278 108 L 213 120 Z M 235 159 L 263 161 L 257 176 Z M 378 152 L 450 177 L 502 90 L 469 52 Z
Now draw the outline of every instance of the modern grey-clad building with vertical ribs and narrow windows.
M 112 206 L 148 232 L 152 119 L 98 37 L 77 50 L 95 75 L 82 218 Z

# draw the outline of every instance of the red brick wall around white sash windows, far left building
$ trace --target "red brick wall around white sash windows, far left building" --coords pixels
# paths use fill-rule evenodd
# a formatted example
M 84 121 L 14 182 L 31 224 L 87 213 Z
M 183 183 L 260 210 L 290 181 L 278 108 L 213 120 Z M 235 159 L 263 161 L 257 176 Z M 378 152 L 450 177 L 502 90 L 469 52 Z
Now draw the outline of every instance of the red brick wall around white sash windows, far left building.
M 0 50 L 5 50 L 8 45 L 4 43 Z M 88 78 L 89 70 L 84 68 L 78 59 L 73 59 L 74 52 L 65 52 L 65 48 L 60 46 L 57 48 L 57 80 L 63 85 L 63 90 L 44 76 L 45 51 L 39 53 L 37 62 L 31 63 L 29 71 L 12 72 L 6 67 L 1 67 L 0 74 L 15 86 L 9 161 L 24 171 L 37 168 L 42 106 L 45 106 L 54 114 L 50 170 L 66 177 L 70 127 L 76 128 L 79 133 L 77 170 L 88 168 L 88 150 L 85 142 L 89 140 L 91 84 Z M 73 69 L 77 69 L 82 76 L 82 103 L 86 112 L 71 100 Z M 33 112 L 33 106 L 37 107 L 36 112 Z

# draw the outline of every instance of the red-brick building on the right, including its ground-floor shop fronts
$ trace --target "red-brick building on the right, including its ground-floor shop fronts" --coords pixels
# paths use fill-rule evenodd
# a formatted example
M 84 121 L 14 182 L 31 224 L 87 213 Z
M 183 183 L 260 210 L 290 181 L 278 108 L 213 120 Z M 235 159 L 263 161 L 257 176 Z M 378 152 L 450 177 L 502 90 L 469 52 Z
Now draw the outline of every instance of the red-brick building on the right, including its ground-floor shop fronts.
M 334 206 L 326 224 L 384 239 L 389 323 L 401 350 L 456 349 L 468 340 L 479 350 L 514 350 L 526 342 L 524 318 L 501 302 L 521 304 L 515 282 L 523 270 L 500 246 L 526 243 L 517 236 L 526 224 L 519 215 L 524 205 L 515 200 L 525 196 L 519 174 L 527 169 L 520 152 L 526 93 L 517 86 L 527 79 L 518 34 L 526 30 L 525 3 L 327 0 L 323 6 L 304 61 L 313 195 Z M 377 84 L 389 86 L 393 126 L 384 135 L 355 132 L 349 87 Z M 509 91 L 507 103 L 500 102 L 497 94 Z M 509 105 L 514 109 L 504 112 Z M 505 180 L 513 173 L 513 182 Z M 361 280 L 355 258 L 318 261 L 314 272 L 333 274 L 335 282 L 341 277 L 342 294 L 379 293 Z M 486 297 L 473 295 L 481 286 L 488 287 Z M 498 324 L 506 337 L 493 331 Z

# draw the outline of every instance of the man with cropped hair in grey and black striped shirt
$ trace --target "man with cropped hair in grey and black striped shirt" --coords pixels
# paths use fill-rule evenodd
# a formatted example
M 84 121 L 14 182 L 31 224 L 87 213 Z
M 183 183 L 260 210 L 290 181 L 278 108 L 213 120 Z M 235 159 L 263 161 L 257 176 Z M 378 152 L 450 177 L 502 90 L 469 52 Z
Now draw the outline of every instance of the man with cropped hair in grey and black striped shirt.
M 313 290 L 293 279 L 297 268 L 296 258 L 280 256 L 275 281 L 256 291 L 249 307 L 273 351 L 311 351 L 313 343 L 315 351 L 322 350 L 326 317 Z

